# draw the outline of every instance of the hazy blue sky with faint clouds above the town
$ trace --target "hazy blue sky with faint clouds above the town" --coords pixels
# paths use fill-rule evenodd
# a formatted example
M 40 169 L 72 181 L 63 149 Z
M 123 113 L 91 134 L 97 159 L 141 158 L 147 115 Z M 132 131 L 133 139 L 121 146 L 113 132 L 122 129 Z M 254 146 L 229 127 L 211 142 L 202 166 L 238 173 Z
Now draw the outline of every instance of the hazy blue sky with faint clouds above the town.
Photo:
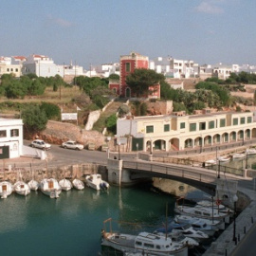
M 255 0 L 1 0 L 0 56 L 119 62 L 136 51 L 198 64 L 256 64 Z

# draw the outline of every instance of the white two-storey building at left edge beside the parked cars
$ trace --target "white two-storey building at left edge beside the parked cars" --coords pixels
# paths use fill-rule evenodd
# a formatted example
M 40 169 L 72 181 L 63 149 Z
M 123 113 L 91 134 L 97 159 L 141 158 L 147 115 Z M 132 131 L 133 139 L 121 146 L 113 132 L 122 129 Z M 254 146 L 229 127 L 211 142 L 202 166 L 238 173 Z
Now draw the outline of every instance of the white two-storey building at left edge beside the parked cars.
M 22 119 L 0 119 L 0 159 L 23 155 Z

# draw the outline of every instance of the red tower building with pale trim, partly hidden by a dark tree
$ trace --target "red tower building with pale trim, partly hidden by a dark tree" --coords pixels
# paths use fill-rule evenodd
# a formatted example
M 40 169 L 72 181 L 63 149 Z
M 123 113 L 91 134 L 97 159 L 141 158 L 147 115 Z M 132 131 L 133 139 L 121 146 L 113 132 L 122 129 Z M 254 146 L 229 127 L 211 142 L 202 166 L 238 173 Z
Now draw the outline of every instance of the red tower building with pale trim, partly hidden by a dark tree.
M 127 86 L 125 80 L 126 77 L 133 73 L 135 69 L 137 68 L 149 68 L 149 58 L 146 56 L 142 56 L 136 52 L 131 52 L 130 55 L 123 55 L 120 56 L 120 79 L 119 83 L 116 81 L 110 81 L 109 82 L 109 88 L 111 90 L 114 90 L 117 95 L 124 97 L 124 98 L 130 98 L 133 96 L 133 92 L 131 91 L 131 88 Z M 154 87 L 154 93 L 152 93 L 151 96 L 148 96 L 149 98 L 160 98 L 160 85 L 155 84 Z M 150 89 L 153 89 L 151 87 Z

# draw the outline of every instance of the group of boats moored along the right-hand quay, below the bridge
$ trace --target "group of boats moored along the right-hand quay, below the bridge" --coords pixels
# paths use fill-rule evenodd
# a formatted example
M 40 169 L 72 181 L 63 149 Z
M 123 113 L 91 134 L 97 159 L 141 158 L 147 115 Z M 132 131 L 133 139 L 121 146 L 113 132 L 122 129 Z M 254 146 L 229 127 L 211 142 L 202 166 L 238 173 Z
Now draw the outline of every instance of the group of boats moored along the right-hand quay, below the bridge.
M 131 235 L 102 229 L 101 246 L 121 250 L 124 255 L 187 256 L 189 248 L 198 247 L 216 231 L 225 229 L 232 212 L 222 204 L 209 201 L 186 208 L 176 204 L 174 211 L 178 213 L 174 220 L 152 233 L 142 231 Z M 111 219 L 105 223 L 108 221 Z

